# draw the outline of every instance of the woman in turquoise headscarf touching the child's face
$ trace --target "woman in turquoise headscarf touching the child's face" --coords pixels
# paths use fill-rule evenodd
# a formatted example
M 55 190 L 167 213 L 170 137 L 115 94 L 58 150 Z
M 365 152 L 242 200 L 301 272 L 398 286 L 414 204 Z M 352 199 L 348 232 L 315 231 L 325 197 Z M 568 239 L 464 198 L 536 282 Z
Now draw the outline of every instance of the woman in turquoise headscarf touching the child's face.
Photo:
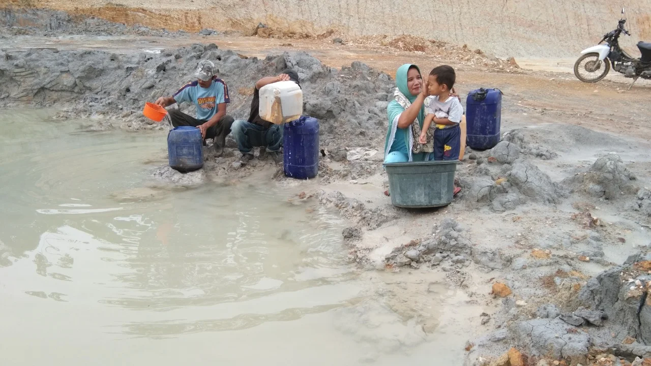
M 389 130 L 384 142 L 384 162 L 422 162 L 434 149 L 432 139 L 421 145 L 422 122 L 425 119 L 424 100 L 429 96 L 421 76 L 421 70 L 414 64 L 404 64 L 396 72 L 395 100 L 387 107 Z M 417 135 L 415 135 L 417 133 Z

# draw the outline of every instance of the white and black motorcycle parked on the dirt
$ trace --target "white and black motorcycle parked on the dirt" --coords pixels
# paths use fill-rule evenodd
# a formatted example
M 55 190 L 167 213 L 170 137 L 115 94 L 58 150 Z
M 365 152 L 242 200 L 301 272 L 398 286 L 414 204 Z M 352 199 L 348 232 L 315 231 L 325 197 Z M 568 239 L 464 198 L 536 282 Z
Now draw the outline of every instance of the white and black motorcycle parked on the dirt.
M 624 9 L 622 9 L 624 14 Z M 632 77 L 633 84 L 639 77 L 651 79 L 651 43 L 639 42 L 637 48 L 640 49 L 642 57 L 634 59 L 624 49 L 619 46 L 619 36 L 630 36 L 631 34 L 624 29 L 625 19 L 621 19 L 617 24 L 617 29 L 603 36 L 598 46 L 584 49 L 582 56 L 574 63 L 574 75 L 585 83 L 596 83 L 600 81 L 611 69 L 624 74 L 626 77 Z M 605 42 L 605 43 L 604 43 Z M 602 44 L 603 43 L 603 44 Z

